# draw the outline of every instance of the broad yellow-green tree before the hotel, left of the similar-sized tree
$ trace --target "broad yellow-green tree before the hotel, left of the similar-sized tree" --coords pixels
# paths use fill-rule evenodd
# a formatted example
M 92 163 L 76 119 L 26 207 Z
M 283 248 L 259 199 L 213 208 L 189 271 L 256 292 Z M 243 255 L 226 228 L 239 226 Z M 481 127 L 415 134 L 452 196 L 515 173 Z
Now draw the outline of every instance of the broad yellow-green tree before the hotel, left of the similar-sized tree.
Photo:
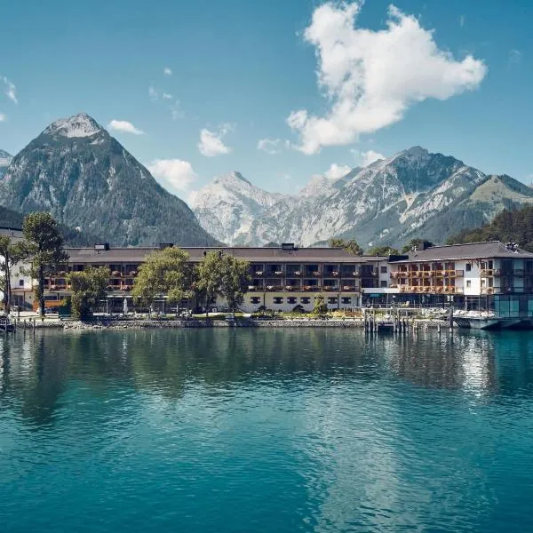
M 179 303 L 192 295 L 192 268 L 187 265 L 187 251 L 179 248 L 165 248 L 153 251 L 139 267 L 139 274 L 133 283 L 133 298 L 150 305 L 158 295 L 166 294 L 169 304 Z

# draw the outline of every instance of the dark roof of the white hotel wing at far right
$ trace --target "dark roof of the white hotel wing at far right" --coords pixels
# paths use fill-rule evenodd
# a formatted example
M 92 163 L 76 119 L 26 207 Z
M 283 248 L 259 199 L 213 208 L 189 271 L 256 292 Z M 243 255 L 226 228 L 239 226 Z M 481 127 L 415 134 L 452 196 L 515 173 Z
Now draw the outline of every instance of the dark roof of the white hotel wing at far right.
M 447 261 L 459 259 L 533 259 L 533 253 L 516 248 L 510 250 L 504 243 L 489 241 L 486 243 L 449 244 L 432 246 L 426 250 L 411 251 L 409 259 L 394 263 L 412 263 L 422 261 Z

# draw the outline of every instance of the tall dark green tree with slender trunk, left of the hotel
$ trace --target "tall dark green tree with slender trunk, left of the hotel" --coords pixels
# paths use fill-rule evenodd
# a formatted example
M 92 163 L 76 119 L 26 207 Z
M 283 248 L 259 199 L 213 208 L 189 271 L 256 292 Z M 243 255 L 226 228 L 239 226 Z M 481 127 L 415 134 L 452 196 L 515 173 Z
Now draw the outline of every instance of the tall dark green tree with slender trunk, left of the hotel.
M 58 223 L 47 212 L 30 213 L 22 224 L 25 250 L 30 259 L 28 274 L 37 280 L 36 299 L 39 314 L 44 316 L 44 277 L 53 269 L 65 263 L 68 255 L 63 251 L 63 237 Z

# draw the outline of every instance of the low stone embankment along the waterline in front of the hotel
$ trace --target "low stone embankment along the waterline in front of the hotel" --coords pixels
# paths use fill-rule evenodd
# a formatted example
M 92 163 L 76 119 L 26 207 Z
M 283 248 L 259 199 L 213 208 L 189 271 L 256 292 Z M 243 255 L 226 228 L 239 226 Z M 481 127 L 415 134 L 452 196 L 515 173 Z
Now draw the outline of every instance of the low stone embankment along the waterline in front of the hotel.
M 282 319 L 257 320 L 251 318 L 232 320 L 187 319 L 187 320 L 106 320 L 90 322 L 72 320 L 27 320 L 15 321 L 20 329 L 64 329 L 64 330 L 142 330 L 157 328 L 362 328 L 362 319 Z M 408 327 L 438 328 L 445 322 L 434 319 L 417 319 L 410 321 Z

